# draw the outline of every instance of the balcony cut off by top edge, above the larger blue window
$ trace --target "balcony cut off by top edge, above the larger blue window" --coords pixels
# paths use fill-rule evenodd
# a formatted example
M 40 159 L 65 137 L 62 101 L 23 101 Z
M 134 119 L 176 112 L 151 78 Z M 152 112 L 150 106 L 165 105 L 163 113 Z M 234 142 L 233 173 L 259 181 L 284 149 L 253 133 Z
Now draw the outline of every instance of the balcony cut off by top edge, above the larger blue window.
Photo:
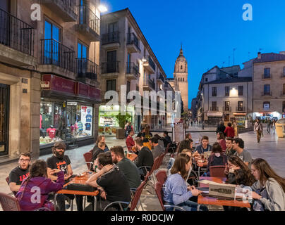
M 40 0 L 40 4 L 49 7 L 63 22 L 75 22 L 78 18 L 75 0 Z

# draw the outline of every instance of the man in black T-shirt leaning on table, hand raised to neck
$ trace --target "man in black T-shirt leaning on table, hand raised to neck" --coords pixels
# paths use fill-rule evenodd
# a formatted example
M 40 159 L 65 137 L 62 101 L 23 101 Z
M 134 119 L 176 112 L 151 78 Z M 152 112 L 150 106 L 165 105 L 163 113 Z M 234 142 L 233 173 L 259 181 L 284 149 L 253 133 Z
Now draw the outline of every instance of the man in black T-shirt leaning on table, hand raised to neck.
M 98 201 L 97 209 L 104 210 L 104 207 L 116 201 L 130 202 L 131 193 L 128 180 L 123 172 L 116 165 L 113 165 L 111 153 L 100 153 L 98 155 L 98 168 L 100 171 L 86 181 L 87 185 L 101 191 L 101 199 Z M 128 205 L 122 206 L 128 207 Z M 118 207 L 116 205 L 116 209 Z M 114 210 L 114 206 L 111 208 Z

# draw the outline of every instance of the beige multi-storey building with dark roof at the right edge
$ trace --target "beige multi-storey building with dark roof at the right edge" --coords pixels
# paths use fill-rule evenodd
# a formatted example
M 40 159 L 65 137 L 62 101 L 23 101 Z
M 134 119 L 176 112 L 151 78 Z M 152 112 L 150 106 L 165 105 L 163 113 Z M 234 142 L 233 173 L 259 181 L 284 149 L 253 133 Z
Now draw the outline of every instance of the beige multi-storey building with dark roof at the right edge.
M 253 60 L 253 119 L 285 117 L 285 53 L 258 53 Z

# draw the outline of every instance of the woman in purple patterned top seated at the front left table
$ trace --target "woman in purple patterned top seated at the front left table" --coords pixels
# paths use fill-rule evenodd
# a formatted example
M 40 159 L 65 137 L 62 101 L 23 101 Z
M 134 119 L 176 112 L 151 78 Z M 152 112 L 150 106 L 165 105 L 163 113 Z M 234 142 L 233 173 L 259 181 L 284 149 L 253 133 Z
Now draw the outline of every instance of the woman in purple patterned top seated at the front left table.
M 46 207 L 54 211 L 54 204 L 47 200 L 49 193 L 60 191 L 64 184 L 64 172 L 52 169 L 51 174 L 58 174 L 56 183 L 47 178 L 47 162 L 36 160 L 30 166 L 30 176 L 26 178 L 18 191 L 20 209 L 34 211 Z

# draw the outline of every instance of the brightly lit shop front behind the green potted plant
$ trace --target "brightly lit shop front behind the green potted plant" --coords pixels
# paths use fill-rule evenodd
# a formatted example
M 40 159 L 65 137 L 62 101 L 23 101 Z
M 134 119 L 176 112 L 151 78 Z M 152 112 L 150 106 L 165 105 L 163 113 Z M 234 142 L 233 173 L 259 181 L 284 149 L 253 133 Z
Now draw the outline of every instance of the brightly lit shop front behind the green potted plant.
M 107 106 L 100 105 L 99 107 L 99 135 L 116 136 L 116 131 L 119 129 L 118 115 L 121 112 L 119 105 Z M 128 106 L 126 108 L 126 120 L 131 122 L 133 128 L 138 127 L 135 120 L 135 108 Z M 137 118 L 138 120 L 139 118 Z M 124 127 L 122 127 L 124 128 Z

